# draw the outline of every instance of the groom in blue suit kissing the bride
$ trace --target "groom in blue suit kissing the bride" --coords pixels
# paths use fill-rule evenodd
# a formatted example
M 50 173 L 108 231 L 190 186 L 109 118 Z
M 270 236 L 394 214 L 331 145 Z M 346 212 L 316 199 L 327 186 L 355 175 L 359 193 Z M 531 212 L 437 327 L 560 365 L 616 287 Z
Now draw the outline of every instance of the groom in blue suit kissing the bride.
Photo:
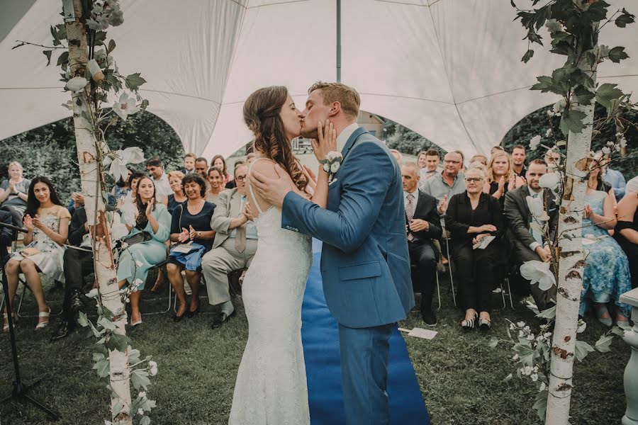
M 357 125 L 357 91 L 318 82 L 308 94 L 301 135 L 318 139 L 318 123 L 330 120 L 342 149 L 328 209 L 291 191 L 283 171 L 279 180 L 255 175 L 251 183 L 281 207 L 281 227 L 325 242 L 321 274 L 325 300 L 339 323 L 346 423 L 389 424 L 389 340 L 414 305 L 401 169 L 384 143 Z

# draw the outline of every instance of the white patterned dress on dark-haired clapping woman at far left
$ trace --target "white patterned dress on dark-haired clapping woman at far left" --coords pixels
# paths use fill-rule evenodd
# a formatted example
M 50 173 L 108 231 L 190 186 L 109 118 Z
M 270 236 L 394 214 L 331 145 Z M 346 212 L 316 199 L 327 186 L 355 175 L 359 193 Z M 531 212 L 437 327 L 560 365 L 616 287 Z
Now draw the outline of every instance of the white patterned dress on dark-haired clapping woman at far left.
M 38 208 L 40 220 L 46 227 L 56 233 L 60 232 L 60 220 L 70 219 L 71 214 L 61 205 L 53 205 L 50 208 Z M 22 255 L 22 251 L 14 253 L 11 258 L 18 261 L 30 259 L 36 266 L 53 280 L 60 282 L 65 281 L 65 271 L 62 268 L 62 259 L 65 256 L 65 247 L 58 245 L 45 232 L 35 227 L 33 229 L 33 241 L 25 246 L 26 248 L 35 248 L 40 252 L 35 255 Z

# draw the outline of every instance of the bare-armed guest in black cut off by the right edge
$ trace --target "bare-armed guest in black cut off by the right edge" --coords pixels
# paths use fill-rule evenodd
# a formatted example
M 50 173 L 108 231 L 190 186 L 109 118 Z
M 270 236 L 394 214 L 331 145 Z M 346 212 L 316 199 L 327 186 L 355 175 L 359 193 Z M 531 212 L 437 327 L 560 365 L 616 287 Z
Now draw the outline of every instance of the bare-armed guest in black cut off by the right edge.
M 618 222 L 614 238 L 629 260 L 632 288 L 638 288 L 638 177 L 627 183 L 627 191 L 617 206 Z

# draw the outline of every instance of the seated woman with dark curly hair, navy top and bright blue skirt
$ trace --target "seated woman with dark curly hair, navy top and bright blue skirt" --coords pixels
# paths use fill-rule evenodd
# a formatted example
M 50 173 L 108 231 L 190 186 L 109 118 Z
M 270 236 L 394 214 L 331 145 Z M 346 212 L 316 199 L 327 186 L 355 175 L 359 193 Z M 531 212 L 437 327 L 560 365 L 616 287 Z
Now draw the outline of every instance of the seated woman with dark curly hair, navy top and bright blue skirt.
M 211 219 L 215 204 L 206 202 L 206 182 L 198 174 L 188 174 L 182 180 L 186 193 L 185 203 L 181 203 L 174 211 L 171 220 L 171 242 L 179 245 L 171 249 L 166 266 L 169 282 L 175 290 L 179 301 L 177 312 L 173 316 L 175 322 L 186 317 L 193 317 L 199 312 L 199 281 L 201 280 L 201 257 L 211 250 L 215 232 L 211 229 Z M 186 293 L 181 271 L 186 270 L 186 281 L 191 287 L 191 302 L 186 310 Z

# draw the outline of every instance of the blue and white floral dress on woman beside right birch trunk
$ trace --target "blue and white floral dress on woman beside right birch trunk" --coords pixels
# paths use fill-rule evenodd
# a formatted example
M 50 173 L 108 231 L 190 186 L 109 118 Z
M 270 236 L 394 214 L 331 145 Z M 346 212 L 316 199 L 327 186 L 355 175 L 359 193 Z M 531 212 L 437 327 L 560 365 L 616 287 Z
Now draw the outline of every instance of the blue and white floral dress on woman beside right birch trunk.
M 607 193 L 595 191 L 585 196 L 595 214 L 603 215 L 603 203 Z M 631 307 L 620 302 L 620 295 L 632 288 L 629 278 L 629 261 L 620 245 L 607 230 L 583 219 L 583 251 L 585 252 L 585 276 L 581 292 L 581 309 L 585 313 L 585 300 L 615 302 L 622 314 L 629 317 Z

